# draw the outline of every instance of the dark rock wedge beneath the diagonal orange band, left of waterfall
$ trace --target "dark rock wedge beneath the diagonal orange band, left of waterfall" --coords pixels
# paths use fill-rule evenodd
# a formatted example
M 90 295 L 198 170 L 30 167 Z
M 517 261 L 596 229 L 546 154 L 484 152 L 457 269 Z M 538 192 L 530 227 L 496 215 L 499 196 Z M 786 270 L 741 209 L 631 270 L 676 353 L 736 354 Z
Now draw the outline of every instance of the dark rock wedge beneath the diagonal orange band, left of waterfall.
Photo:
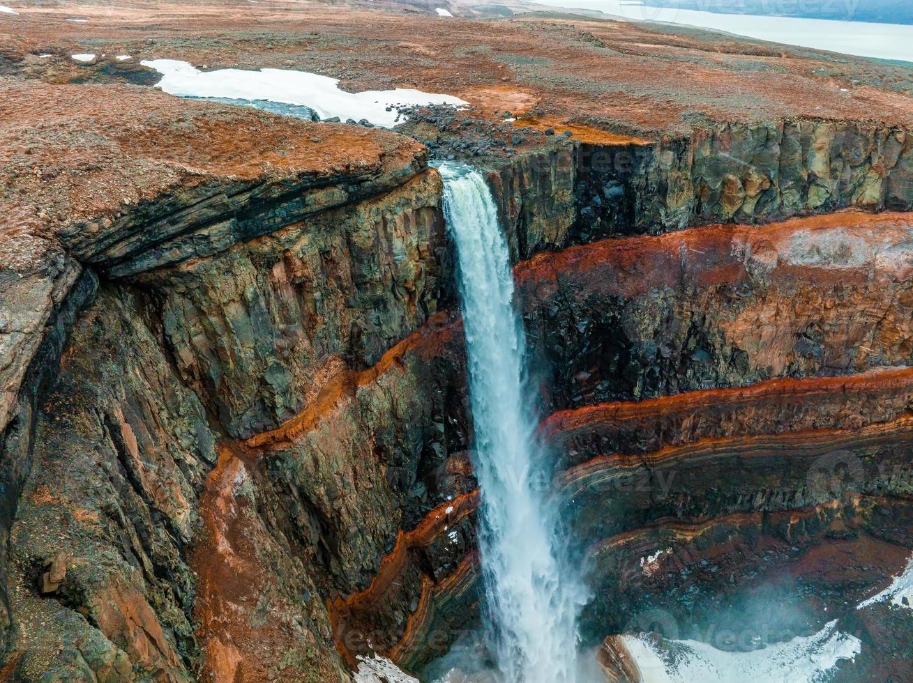
M 282 437 L 248 441 L 273 441 L 270 479 L 287 492 L 289 523 L 326 564 L 324 588 L 365 588 L 400 530 L 459 493 L 435 484 L 466 448 L 460 334 L 436 318 L 378 366 L 328 388 L 318 411 L 290 421 Z

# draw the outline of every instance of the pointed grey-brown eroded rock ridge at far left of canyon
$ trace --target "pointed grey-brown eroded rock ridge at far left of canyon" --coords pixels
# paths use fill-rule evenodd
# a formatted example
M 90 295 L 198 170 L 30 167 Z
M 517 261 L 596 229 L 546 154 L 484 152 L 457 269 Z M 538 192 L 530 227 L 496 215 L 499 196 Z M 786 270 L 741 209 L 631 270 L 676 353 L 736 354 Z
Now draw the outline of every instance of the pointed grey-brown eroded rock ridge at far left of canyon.
M 103 290 L 37 404 L 10 532 L 14 670 L 23 679 L 90 670 L 112 680 L 133 667 L 184 679 L 196 655 L 184 549 L 215 435 L 199 398 L 175 381 L 141 305 Z M 62 583 L 40 595 L 37 572 L 60 556 Z

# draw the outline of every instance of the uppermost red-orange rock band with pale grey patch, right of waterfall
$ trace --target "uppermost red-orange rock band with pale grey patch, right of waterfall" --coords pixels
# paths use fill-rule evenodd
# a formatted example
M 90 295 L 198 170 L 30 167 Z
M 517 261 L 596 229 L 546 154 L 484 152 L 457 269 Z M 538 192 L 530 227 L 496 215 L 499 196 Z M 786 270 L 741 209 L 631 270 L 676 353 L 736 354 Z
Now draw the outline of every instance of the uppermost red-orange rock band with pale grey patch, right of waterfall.
M 899 252 L 911 231 L 913 213 L 892 212 L 835 212 L 762 226 L 724 223 L 538 254 L 517 265 L 514 275 L 529 304 L 554 294 L 561 280 L 585 280 L 601 295 L 627 299 L 683 282 L 703 288 L 749 281 L 773 270 L 819 286 L 873 274 L 907 278 L 913 264 Z

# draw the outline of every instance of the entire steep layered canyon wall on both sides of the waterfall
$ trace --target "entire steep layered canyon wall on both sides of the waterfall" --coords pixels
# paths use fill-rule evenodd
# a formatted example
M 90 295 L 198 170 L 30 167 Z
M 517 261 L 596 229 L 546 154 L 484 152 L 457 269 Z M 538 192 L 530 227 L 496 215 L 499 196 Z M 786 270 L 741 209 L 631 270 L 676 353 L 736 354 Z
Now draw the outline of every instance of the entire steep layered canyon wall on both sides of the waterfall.
M 188 182 L 18 238 L 5 675 L 345 680 L 370 651 L 421 667 L 472 623 L 441 182 L 411 140 L 360 135 L 382 150 L 367 169 Z M 477 159 L 596 587 L 591 641 L 651 600 L 671 610 L 659 577 L 692 560 L 728 557 L 742 585 L 785 536 L 783 564 L 840 529 L 913 547 L 909 524 L 885 531 L 909 514 L 891 473 L 910 436 L 913 228 L 873 213 L 911 208 L 911 144 L 790 121 Z M 844 451 L 855 485 L 809 479 Z

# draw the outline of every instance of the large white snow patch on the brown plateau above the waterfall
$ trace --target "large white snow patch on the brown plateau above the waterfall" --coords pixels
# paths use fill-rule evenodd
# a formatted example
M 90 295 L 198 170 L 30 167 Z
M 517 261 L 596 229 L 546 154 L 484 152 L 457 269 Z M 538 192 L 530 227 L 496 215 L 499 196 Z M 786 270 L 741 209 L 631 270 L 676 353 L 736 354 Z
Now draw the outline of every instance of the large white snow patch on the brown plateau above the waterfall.
M 467 104 L 450 95 L 404 88 L 345 92 L 339 88 L 338 78 L 307 71 L 224 68 L 204 72 L 177 59 L 144 59 L 140 64 L 162 74 L 156 88 L 179 97 L 268 99 L 310 107 L 320 119 L 367 119 L 383 128 L 393 128 L 402 123 L 404 118 L 396 110 L 397 105 L 448 104 L 461 107 Z

